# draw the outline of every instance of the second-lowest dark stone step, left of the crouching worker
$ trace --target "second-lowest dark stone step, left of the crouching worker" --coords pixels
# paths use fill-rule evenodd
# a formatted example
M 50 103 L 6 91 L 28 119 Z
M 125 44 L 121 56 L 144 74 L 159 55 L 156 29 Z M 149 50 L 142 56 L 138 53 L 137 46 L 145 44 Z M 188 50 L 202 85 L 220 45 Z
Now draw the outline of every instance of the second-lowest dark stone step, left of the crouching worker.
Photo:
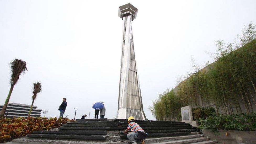
M 33 134 L 98 134 L 106 135 L 106 131 L 34 131 Z

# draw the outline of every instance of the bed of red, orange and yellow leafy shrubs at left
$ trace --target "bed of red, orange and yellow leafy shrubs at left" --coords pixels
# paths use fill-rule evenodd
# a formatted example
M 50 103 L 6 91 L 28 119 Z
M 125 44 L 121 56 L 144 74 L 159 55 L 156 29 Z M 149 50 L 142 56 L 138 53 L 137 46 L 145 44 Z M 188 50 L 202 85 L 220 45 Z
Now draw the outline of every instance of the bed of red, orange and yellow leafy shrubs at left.
M 50 130 L 58 128 L 62 124 L 66 124 L 68 118 L 42 118 L 42 117 L 24 117 L 18 118 L 0 118 L 0 142 L 10 141 L 14 138 L 19 138 L 31 134 L 37 130 Z

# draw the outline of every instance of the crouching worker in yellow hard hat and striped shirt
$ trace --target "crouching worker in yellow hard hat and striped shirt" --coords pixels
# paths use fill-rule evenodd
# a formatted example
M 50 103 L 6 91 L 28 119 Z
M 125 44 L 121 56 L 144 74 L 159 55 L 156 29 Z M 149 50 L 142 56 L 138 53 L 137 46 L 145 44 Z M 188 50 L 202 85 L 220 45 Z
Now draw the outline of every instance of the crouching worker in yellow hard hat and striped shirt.
M 130 116 L 128 118 L 128 126 L 127 129 L 124 131 L 124 134 L 126 134 L 129 130 L 131 132 L 128 132 L 127 138 L 130 140 L 132 144 L 137 144 L 136 139 L 141 139 L 142 144 L 145 143 L 146 134 L 145 131 L 138 125 L 136 122 L 134 122 L 134 117 Z

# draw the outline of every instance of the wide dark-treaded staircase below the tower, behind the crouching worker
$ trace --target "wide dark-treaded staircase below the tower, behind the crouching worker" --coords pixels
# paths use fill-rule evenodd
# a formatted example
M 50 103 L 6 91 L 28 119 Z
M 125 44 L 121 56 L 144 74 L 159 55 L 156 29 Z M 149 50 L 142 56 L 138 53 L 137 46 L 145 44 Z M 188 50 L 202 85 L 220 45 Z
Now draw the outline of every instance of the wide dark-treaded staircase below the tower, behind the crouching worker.
M 146 143 L 211 143 L 197 132 L 195 127 L 184 122 L 135 120 L 148 135 Z M 123 131 L 126 119 L 77 119 L 57 130 L 34 131 L 13 143 L 128 143 Z

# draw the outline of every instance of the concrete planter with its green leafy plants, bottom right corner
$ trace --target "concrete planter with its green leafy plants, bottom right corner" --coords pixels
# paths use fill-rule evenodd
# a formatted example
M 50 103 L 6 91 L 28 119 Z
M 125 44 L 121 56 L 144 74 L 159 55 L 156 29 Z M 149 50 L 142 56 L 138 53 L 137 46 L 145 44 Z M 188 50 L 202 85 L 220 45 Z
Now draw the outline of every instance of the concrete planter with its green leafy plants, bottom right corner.
M 204 136 L 224 143 L 255 143 L 256 113 L 215 114 L 199 119 Z

